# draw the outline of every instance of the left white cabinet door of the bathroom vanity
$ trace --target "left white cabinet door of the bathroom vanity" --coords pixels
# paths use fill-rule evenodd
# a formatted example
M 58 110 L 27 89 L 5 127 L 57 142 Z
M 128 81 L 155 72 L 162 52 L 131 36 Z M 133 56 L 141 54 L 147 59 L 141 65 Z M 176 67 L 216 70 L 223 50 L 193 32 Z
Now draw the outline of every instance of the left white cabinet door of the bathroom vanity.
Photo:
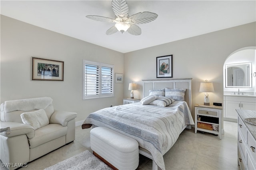
M 226 101 L 225 105 L 225 117 L 226 118 L 232 118 L 232 119 L 237 119 L 237 112 L 236 109 L 240 109 L 240 102 L 236 101 Z

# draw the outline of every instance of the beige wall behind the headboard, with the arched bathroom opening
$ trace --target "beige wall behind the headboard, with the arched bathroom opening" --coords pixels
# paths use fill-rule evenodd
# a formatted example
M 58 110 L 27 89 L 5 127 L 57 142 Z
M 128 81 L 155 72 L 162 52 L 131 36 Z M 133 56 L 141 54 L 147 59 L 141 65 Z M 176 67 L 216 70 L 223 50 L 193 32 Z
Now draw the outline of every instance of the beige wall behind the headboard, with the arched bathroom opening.
M 173 55 L 173 78 L 192 79 L 192 106 L 203 103 L 200 82 L 213 82 L 215 92 L 209 93 L 210 104 L 223 104 L 223 65 L 234 51 L 256 46 L 256 22 L 170 42 L 124 56 L 124 97 L 130 96 L 128 84 L 138 83 L 134 98 L 142 98 L 142 81 L 156 78 L 156 57 Z M 189 28 L 188 28 L 189 31 Z M 154 40 L 152 40 L 154 41 Z M 194 107 L 192 115 L 194 116 Z

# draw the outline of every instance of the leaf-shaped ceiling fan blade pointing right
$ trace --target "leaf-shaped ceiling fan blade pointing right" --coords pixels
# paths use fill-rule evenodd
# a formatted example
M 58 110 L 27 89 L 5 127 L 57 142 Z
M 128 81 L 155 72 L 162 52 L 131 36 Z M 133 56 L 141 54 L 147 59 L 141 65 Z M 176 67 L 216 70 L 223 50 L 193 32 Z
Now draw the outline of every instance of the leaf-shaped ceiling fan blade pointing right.
M 130 16 L 129 22 L 132 24 L 145 24 L 154 21 L 158 17 L 158 14 L 152 12 L 139 12 Z

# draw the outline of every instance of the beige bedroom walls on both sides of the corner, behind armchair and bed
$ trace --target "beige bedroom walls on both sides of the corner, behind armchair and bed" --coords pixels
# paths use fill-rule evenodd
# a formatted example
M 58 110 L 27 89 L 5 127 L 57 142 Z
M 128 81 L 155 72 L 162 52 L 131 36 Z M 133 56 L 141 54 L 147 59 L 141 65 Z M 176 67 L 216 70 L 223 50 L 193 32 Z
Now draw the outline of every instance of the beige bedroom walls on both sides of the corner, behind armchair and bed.
M 122 54 L 1 16 L 0 102 L 50 96 L 55 109 L 77 112 L 76 121 L 82 121 L 90 112 L 122 104 L 122 98 L 130 96 L 130 82 L 138 83 L 134 97 L 142 98 L 141 80 L 156 78 L 156 57 L 172 54 L 173 78 L 193 78 L 192 105 L 203 102 L 204 94 L 198 91 L 204 80 L 214 84 L 211 104 L 223 103 L 224 61 L 240 48 L 256 46 L 255 25 L 254 22 Z M 64 81 L 30 80 L 31 56 L 64 61 Z M 114 64 L 116 73 L 124 73 L 124 84 L 114 84 L 115 97 L 82 100 L 83 59 Z

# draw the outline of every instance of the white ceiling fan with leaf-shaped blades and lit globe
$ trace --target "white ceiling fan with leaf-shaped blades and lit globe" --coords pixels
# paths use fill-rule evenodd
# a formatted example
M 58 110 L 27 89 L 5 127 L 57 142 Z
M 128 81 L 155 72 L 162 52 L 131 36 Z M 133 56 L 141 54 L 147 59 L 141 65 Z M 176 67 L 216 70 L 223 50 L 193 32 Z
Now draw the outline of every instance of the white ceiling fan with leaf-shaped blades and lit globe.
M 135 24 L 145 24 L 154 21 L 158 16 L 152 12 L 139 12 L 129 16 L 129 8 L 126 0 L 112 0 L 112 9 L 116 15 L 115 19 L 96 15 L 88 15 L 86 17 L 96 21 L 116 23 L 106 31 L 107 35 L 114 34 L 117 31 L 122 33 L 127 31 L 132 35 L 138 36 L 141 34 L 141 29 Z

